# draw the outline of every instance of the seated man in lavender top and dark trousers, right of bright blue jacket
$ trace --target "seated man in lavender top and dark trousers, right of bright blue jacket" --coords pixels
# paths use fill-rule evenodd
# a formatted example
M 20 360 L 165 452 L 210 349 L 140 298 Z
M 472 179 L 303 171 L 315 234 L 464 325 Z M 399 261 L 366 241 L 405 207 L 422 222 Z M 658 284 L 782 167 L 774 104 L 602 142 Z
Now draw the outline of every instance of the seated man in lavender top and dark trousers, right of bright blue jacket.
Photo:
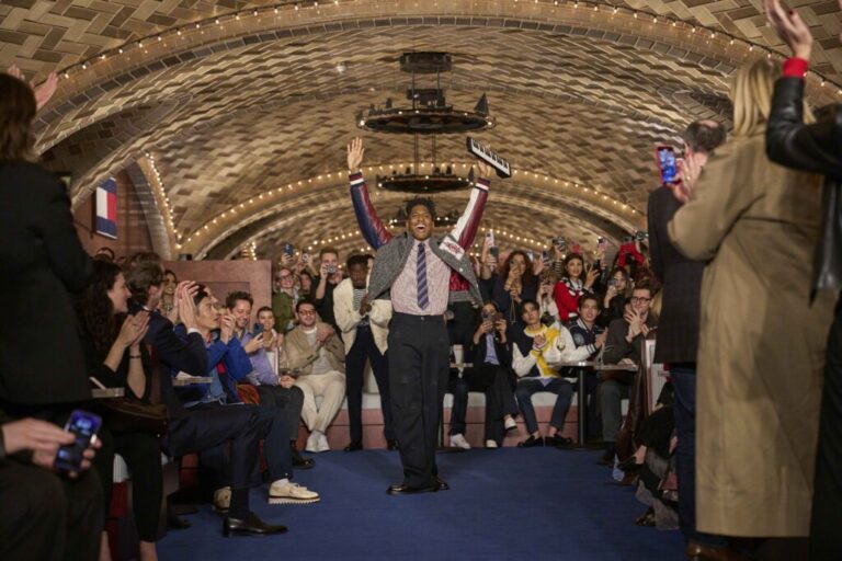
M 296 440 L 298 439 L 298 419 L 301 416 L 304 407 L 304 392 L 295 387 L 295 379 L 292 376 L 280 377 L 277 368 L 270 363 L 266 354 L 268 348 L 277 352 L 277 343 L 272 335 L 274 330 L 262 331 L 257 336 L 251 329 L 251 307 L 254 300 L 249 293 L 230 293 L 225 299 L 225 306 L 228 313 L 235 319 L 235 336 L 240 340 L 242 350 L 249 356 L 252 371 L 246 379 L 258 389 L 260 404 L 281 409 L 286 413 L 286 426 L 289 428 L 289 453 L 293 456 L 293 466 L 298 469 L 309 469 L 314 466 L 314 460 L 304 458 L 298 453 Z M 264 308 L 272 314 L 271 308 Z M 265 313 L 265 312 L 264 312 Z M 272 318 L 274 321 L 274 317 Z M 260 324 L 263 328 L 263 323 Z M 277 335 L 283 337 L 283 335 Z M 282 379 L 283 378 L 283 379 Z

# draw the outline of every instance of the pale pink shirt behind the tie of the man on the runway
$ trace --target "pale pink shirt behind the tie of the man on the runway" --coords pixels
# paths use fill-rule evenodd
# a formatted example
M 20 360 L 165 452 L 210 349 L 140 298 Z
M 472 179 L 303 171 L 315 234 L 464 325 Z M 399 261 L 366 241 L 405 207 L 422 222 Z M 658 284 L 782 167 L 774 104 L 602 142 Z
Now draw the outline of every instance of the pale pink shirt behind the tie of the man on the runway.
M 451 267 L 430 249 L 430 238 L 423 242 L 413 239 L 409 259 L 400 272 L 395 284 L 391 285 L 391 306 L 398 313 L 412 316 L 443 316 L 447 310 L 447 297 L 451 287 Z M 418 306 L 418 245 L 424 248 L 426 259 L 426 290 L 430 305 L 426 308 Z

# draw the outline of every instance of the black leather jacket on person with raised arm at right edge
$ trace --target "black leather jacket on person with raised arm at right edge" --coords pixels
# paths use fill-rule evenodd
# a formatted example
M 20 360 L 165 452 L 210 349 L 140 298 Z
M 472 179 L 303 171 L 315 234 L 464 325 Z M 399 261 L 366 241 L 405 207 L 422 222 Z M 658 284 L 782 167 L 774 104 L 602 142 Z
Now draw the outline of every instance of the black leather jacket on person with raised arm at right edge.
M 821 239 L 816 251 L 812 290 L 842 288 L 842 105 L 820 122 L 804 125 L 804 80 L 775 83 L 766 128 L 770 160 L 826 176 Z

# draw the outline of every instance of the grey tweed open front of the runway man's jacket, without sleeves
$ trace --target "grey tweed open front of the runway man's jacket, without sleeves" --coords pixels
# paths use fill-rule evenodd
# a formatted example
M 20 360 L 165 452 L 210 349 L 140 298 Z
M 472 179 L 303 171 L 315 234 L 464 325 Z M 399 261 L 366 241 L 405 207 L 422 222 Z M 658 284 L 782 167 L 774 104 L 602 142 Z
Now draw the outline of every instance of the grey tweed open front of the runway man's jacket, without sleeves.
M 395 280 L 397 280 L 398 275 L 403 271 L 409 254 L 412 252 L 413 243 L 414 239 L 411 238 L 409 232 L 403 232 L 377 250 L 372 274 L 368 278 L 369 301 L 378 298 L 391 299 L 389 290 Z M 468 259 L 468 253 L 459 245 L 456 239 L 450 234 L 444 238 L 433 238 L 430 249 L 448 267 L 456 271 L 470 284 L 470 290 L 468 291 L 470 301 L 481 306 L 482 295 L 479 293 L 479 284 L 477 283 L 477 276 L 474 274 L 474 266 Z

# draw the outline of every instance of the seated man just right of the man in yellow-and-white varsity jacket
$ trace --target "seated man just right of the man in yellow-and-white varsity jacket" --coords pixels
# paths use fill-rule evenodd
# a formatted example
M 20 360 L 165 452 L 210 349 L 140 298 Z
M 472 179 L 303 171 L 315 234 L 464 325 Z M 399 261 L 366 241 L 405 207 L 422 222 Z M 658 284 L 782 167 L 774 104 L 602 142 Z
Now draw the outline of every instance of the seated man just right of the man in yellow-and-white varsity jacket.
M 608 332 L 599 324 L 600 300 L 594 295 L 584 295 L 579 298 L 579 317 L 570 324 L 570 342 L 567 350 L 576 351 L 568 354 L 567 362 L 595 360 L 600 351 L 605 346 L 605 340 Z M 585 373 L 584 390 L 588 403 L 588 436 L 599 436 L 602 434 L 600 415 L 598 410 L 596 388 L 599 379 L 593 371 Z

